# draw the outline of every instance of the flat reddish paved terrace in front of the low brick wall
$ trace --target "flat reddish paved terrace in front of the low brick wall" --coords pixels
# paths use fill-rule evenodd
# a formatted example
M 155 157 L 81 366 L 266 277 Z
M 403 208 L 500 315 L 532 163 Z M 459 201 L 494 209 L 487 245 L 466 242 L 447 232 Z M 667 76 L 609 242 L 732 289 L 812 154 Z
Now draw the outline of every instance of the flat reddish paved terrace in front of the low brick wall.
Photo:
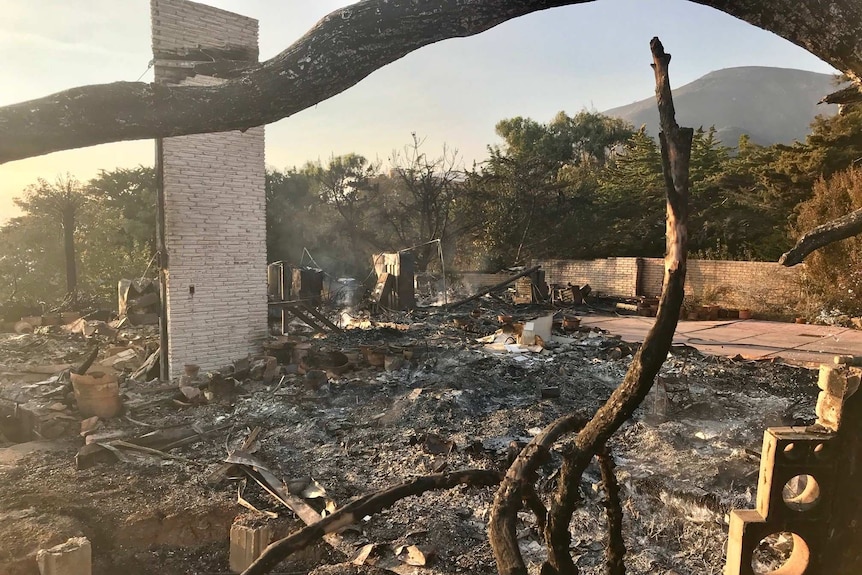
M 628 342 L 642 342 L 654 321 L 639 316 L 581 317 L 581 325 L 602 328 Z M 835 355 L 862 355 L 862 331 L 857 329 L 751 319 L 680 321 L 673 343 L 712 355 L 805 365 L 832 363 Z

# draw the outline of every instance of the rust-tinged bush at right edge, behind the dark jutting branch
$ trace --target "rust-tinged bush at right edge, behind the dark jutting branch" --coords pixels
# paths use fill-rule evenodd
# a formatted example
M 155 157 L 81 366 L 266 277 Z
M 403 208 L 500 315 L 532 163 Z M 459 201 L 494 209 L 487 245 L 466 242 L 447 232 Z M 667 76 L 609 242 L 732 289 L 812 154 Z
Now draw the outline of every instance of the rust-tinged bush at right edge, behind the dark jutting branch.
M 851 168 L 821 178 L 814 194 L 800 204 L 795 232 L 798 235 L 830 220 L 862 209 L 862 168 Z M 835 242 L 805 259 L 810 293 L 828 307 L 862 314 L 862 236 Z

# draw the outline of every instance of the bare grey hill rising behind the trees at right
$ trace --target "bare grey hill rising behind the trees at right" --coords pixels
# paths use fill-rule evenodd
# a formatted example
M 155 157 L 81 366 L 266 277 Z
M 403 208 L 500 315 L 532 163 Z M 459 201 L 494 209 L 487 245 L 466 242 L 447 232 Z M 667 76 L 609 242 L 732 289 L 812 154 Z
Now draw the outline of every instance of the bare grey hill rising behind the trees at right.
M 681 126 L 715 126 L 722 142 L 736 145 L 741 134 L 758 144 L 804 140 L 818 114 L 831 116 L 838 106 L 818 105 L 835 91 L 832 76 L 804 70 L 748 66 L 710 72 L 673 91 Z M 658 134 L 655 98 L 604 112 Z

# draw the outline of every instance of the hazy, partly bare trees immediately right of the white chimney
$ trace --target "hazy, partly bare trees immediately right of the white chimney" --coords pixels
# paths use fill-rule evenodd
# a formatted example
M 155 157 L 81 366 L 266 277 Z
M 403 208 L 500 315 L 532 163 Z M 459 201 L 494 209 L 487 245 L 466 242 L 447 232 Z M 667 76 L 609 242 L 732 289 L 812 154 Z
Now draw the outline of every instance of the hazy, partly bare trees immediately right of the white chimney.
M 306 248 L 328 272 L 364 277 L 372 253 L 418 246 L 417 269 L 436 265 L 437 245 L 429 242 L 454 251 L 453 238 L 469 227 L 459 204 L 464 178 L 456 153 L 428 156 L 421 145 L 414 135 L 393 153 L 388 172 L 358 154 L 269 172 L 270 261 L 298 263 Z

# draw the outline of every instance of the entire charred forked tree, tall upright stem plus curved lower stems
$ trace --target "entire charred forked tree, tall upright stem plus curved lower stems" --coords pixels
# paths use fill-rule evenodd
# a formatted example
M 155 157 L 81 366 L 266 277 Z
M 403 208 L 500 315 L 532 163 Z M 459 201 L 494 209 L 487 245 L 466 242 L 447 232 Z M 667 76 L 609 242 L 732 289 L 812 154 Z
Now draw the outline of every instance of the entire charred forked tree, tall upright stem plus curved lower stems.
M 671 98 L 668 64 L 670 54 L 665 53 L 658 38 L 650 43 L 653 69 L 656 78 L 656 100 L 661 118 L 662 167 L 667 188 L 667 255 L 659 311 L 640 351 L 635 355 L 622 384 L 608 401 L 578 433 L 568 448 L 562 466 L 559 487 L 553 496 L 545 523 L 545 543 L 549 558 L 543 573 L 574 575 L 577 568 L 569 552 L 569 523 L 579 502 L 578 489 L 581 476 L 596 455 L 600 456 L 605 489 L 608 496 L 609 549 L 607 572 L 622 573 L 625 546 L 620 532 L 619 498 L 616 482 L 610 477 L 613 465 L 605 451 L 605 442 L 619 429 L 641 404 L 652 387 L 665 357 L 670 350 L 673 334 L 679 321 L 685 285 L 686 246 L 688 232 L 688 168 L 694 131 L 680 128 L 675 119 Z M 515 533 L 515 515 L 524 486 L 532 484 L 532 473 L 537 460 L 546 453 L 556 439 L 580 427 L 579 418 L 570 417 L 554 422 L 525 448 L 503 481 L 491 512 L 489 537 L 498 571 L 503 575 L 525 575 L 527 567 L 518 549 Z

